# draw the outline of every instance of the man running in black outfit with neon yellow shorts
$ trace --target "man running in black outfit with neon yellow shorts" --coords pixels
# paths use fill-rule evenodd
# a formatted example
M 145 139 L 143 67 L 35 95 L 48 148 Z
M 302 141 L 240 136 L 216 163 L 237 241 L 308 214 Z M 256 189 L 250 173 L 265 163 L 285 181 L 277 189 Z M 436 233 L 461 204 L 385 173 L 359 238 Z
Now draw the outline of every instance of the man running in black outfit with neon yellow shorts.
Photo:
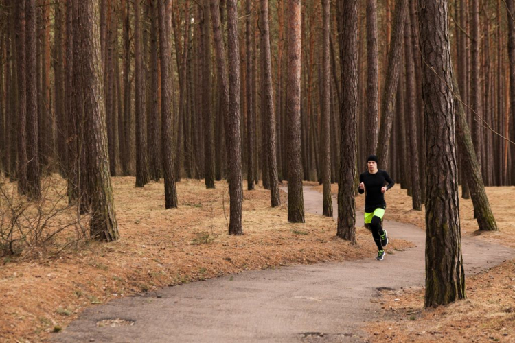
M 395 182 L 391 180 L 386 171 L 377 169 L 378 158 L 376 155 L 370 155 L 367 158 L 368 170 L 359 176 L 358 193 L 365 193 L 365 224 L 370 224 L 372 237 L 378 248 L 377 260 L 382 261 L 385 258 L 385 250 L 388 244 L 388 236 L 385 229 L 381 226 L 382 216 L 385 215 L 386 202 L 385 191 L 391 189 Z M 385 183 L 388 183 L 385 186 Z

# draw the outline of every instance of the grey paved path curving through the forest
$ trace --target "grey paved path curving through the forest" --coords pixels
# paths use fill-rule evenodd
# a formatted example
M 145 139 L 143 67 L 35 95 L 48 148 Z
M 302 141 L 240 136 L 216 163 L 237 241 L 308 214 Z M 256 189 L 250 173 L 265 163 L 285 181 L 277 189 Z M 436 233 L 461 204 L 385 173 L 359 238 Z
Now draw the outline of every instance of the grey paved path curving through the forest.
M 304 188 L 305 209 L 321 214 L 322 196 Z M 334 213 L 337 213 L 336 202 Z M 358 226 L 363 214 L 358 213 Z M 367 342 L 361 331 L 379 316 L 370 299 L 378 289 L 424 285 L 425 233 L 385 220 L 392 239 L 415 248 L 344 263 L 298 265 L 244 272 L 204 282 L 167 287 L 157 294 L 113 300 L 89 307 L 55 342 Z M 515 258 L 515 251 L 465 238 L 466 272 Z M 96 327 L 122 318 L 132 326 Z

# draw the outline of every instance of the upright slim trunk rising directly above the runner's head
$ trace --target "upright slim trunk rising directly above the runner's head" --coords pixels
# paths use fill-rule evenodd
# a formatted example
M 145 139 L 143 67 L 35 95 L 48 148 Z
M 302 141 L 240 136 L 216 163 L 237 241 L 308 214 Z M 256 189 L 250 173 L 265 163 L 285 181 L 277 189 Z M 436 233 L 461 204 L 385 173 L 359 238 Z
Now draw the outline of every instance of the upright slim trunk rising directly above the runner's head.
M 378 33 L 377 0 L 367 0 L 367 110 L 365 155 L 376 154 L 378 143 Z

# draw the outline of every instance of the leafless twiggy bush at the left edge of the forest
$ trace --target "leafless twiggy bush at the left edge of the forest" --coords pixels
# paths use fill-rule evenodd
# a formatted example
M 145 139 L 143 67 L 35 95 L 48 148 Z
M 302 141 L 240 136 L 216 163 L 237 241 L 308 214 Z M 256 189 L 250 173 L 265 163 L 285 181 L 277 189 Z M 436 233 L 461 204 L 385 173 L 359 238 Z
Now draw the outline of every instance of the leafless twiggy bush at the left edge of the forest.
M 87 239 L 76 204 L 69 204 L 67 182 L 54 174 L 43 178 L 41 198 L 31 200 L 16 184 L 0 178 L 0 257 L 52 257 L 78 248 Z

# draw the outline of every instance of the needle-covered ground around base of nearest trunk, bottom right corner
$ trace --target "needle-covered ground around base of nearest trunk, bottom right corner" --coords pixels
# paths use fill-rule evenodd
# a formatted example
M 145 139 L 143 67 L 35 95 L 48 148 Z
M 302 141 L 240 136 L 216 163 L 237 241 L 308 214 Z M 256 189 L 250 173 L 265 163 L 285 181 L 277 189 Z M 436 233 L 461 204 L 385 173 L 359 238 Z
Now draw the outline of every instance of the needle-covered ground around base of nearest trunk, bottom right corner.
M 467 279 L 468 298 L 424 310 L 424 289 L 382 292 L 371 342 L 515 342 L 515 263 Z

